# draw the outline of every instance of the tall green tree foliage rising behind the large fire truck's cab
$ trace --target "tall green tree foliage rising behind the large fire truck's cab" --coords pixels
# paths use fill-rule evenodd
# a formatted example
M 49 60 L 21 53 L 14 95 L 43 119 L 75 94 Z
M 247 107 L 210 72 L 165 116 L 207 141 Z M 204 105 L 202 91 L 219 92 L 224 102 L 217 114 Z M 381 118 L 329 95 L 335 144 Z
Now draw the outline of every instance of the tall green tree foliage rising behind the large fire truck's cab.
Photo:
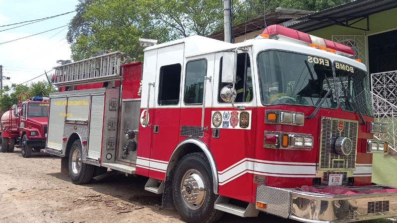
M 321 10 L 351 0 L 234 0 L 233 24 L 258 18 L 276 7 Z M 67 41 L 72 58 L 95 56 L 95 51 L 123 51 L 143 59 L 139 38 L 158 43 L 207 36 L 223 29 L 222 0 L 79 0 Z

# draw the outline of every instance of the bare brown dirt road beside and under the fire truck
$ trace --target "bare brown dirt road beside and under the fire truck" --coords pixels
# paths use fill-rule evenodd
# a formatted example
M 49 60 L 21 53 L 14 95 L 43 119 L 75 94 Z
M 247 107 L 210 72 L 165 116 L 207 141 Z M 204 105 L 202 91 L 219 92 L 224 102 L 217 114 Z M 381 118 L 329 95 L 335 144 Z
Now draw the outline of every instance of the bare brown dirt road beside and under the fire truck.
M 61 173 L 59 157 L 19 149 L 0 153 L 2 223 L 182 222 L 175 210 L 161 208 L 161 195 L 143 189 L 146 178 L 123 173 L 87 185 L 74 185 Z M 220 223 L 295 222 L 260 213 L 257 218 L 225 214 Z

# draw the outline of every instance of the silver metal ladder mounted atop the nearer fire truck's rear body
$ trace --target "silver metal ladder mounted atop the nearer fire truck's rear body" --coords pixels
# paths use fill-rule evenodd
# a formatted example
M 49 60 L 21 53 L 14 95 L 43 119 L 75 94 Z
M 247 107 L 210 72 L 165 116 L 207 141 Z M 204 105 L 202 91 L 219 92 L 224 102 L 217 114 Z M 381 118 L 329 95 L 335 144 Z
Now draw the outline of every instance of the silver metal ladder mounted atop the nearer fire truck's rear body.
M 120 63 L 125 55 L 116 51 L 54 67 L 52 83 L 56 87 L 67 87 L 121 80 Z

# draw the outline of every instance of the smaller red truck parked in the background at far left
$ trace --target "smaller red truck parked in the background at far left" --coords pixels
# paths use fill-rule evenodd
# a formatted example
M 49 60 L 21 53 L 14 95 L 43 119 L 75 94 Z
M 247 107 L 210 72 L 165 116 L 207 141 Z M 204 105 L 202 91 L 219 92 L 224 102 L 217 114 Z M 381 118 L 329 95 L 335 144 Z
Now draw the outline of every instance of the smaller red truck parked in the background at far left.
M 23 101 L 23 98 L 27 100 Z M 30 98 L 27 92 L 19 94 L 18 104 L 1 116 L 1 152 L 12 153 L 16 146 L 21 148 L 22 157 L 30 157 L 33 149 L 44 149 L 49 105 L 49 98 Z

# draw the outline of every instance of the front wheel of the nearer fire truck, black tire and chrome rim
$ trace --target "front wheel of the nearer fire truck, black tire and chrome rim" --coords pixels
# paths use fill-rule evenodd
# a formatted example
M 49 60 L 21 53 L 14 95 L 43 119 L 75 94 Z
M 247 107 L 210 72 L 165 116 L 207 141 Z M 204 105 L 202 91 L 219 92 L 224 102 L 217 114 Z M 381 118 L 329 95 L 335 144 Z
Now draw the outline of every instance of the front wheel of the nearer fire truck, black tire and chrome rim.
M 188 154 L 178 162 L 172 191 L 175 208 L 186 222 L 212 223 L 223 215 L 214 209 L 211 168 L 203 153 Z

